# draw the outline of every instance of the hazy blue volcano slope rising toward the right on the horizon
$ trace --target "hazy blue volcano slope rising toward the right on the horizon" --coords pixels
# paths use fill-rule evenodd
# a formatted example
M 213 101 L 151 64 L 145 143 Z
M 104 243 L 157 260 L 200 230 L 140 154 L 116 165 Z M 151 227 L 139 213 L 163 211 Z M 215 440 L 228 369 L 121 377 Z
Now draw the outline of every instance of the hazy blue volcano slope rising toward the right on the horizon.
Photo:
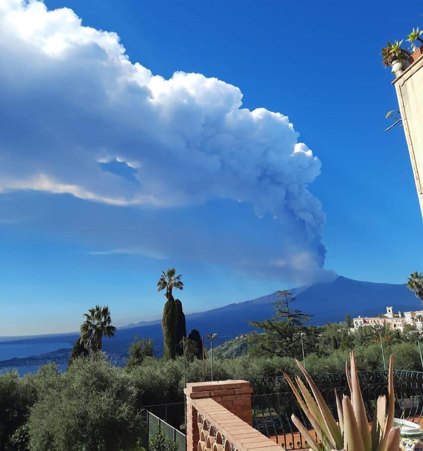
M 337 277 L 330 283 L 314 284 L 292 291 L 297 298 L 294 304 L 295 308 L 304 313 L 312 314 L 310 321 L 312 324 L 322 325 L 326 322 L 341 321 L 346 314 L 350 314 L 352 317 L 381 314 L 386 311 L 387 305 L 393 306 L 394 311 L 400 310 L 402 312 L 421 309 L 421 303 L 407 289 L 405 284 L 379 284 Z M 214 345 L 219 345 L 235 338 L 240 333 L 251 331 L 252 327 L 248 324 L 248 321 L 262 321 L 273 316 L 273 302 L 276 299 L 277 293 L 272 293 L 206 312 L 187 314 L 187 333 L 193 328 L 198 329 L 201 336 L 206 336 L 208 333 L 217 333 L 219 337 L 214 341 Z M 104 350 L 107 352 L 127 351 L 135 334 L 152 338 L 157 355 L 161 355 L 163 339 L 159 320 L 140 323 L 135 327 L 118 328 L 114 339 L 104 340 Z M 26 341 L 36 339 L 40 342 L 57 341 L 58 337 L 63 337 L 63 335 L 26 338 Z M 73 343 L 76 335 L 74 337 L 68 334 L 66 338 Z M 20 339 L 17 337 L 14 341 L 18 340 Z M 208 340 L 205 340 L 205 342 L 206 346 L 209 346 Z

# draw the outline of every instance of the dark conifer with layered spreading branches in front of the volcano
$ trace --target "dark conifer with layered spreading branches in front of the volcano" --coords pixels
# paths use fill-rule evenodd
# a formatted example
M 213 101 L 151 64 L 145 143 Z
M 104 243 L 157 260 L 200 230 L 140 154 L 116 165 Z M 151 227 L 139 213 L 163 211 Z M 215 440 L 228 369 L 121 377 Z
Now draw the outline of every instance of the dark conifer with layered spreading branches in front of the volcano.
M 290 308 L 295 301 L 289 291 L 279 291 L 280 299 L 274 303 L 276 314 L 265 321 L 250 321 L 250 325 L 262 329 L 263 333 L 249 335 L 249 344 L 253 355 L 278 355 L 280 357 L 300 357 L 302 354 L 301 336 L 309 329 L 305 324 L 310 315 Z

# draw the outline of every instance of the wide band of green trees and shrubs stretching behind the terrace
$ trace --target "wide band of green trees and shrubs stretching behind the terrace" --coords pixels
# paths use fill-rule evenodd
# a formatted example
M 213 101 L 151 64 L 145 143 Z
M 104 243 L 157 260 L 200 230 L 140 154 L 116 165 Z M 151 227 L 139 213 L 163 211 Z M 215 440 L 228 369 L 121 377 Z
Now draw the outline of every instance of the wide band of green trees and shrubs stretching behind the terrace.
M 315 329 L 320 331 L 319 335 L 323 333 L 320 338 L 328 343 L 332 340 L 330 331 L 339 334 L 341 345 L 336 350 L 329 346 L 307 352 L 307 371 L 343 372 L 349 349 L 343 349 L 342 342 L 356 340 L 356 334 L 348 334 L 344 323 Z M 403 334 L 400 338 L 398 343 L 382 338 L 386 359 L 393 354 L 395 369 L 421 371 L 416 337 Z M 372 339 L 361 346 L 356 342 L 354 351 L 359 371 L 383 369 L 379 337 L 375 343 Z M 0 374 L 0 444 L 3 443 L 0 449 L 138 450 L 139 437 L 145 433 L 138 412 L 163 400 L 169 403 L 183 400 L 183 363 L 182 357 L 165 360 L 143 356 L 142 365 L 125 371 L 112 367 L 104 354 L 95 353 L 75 359 L 65 373 L 49 364 L 24 377 L 17 372 Z M 203 380 L 201 360 L 191 361 L 187 357 L 185 366 L 186 382 Z M 213 370 L 220 380 L 279 376 L 283 371 L 298 374 L 292 357 L 248 352 L 235 358 L 215 355 Z M 204 362 L 204 379 L 210 380 L 210 359 Z M 178 412 L 168 415 L 170 421 L 176 421 Z

